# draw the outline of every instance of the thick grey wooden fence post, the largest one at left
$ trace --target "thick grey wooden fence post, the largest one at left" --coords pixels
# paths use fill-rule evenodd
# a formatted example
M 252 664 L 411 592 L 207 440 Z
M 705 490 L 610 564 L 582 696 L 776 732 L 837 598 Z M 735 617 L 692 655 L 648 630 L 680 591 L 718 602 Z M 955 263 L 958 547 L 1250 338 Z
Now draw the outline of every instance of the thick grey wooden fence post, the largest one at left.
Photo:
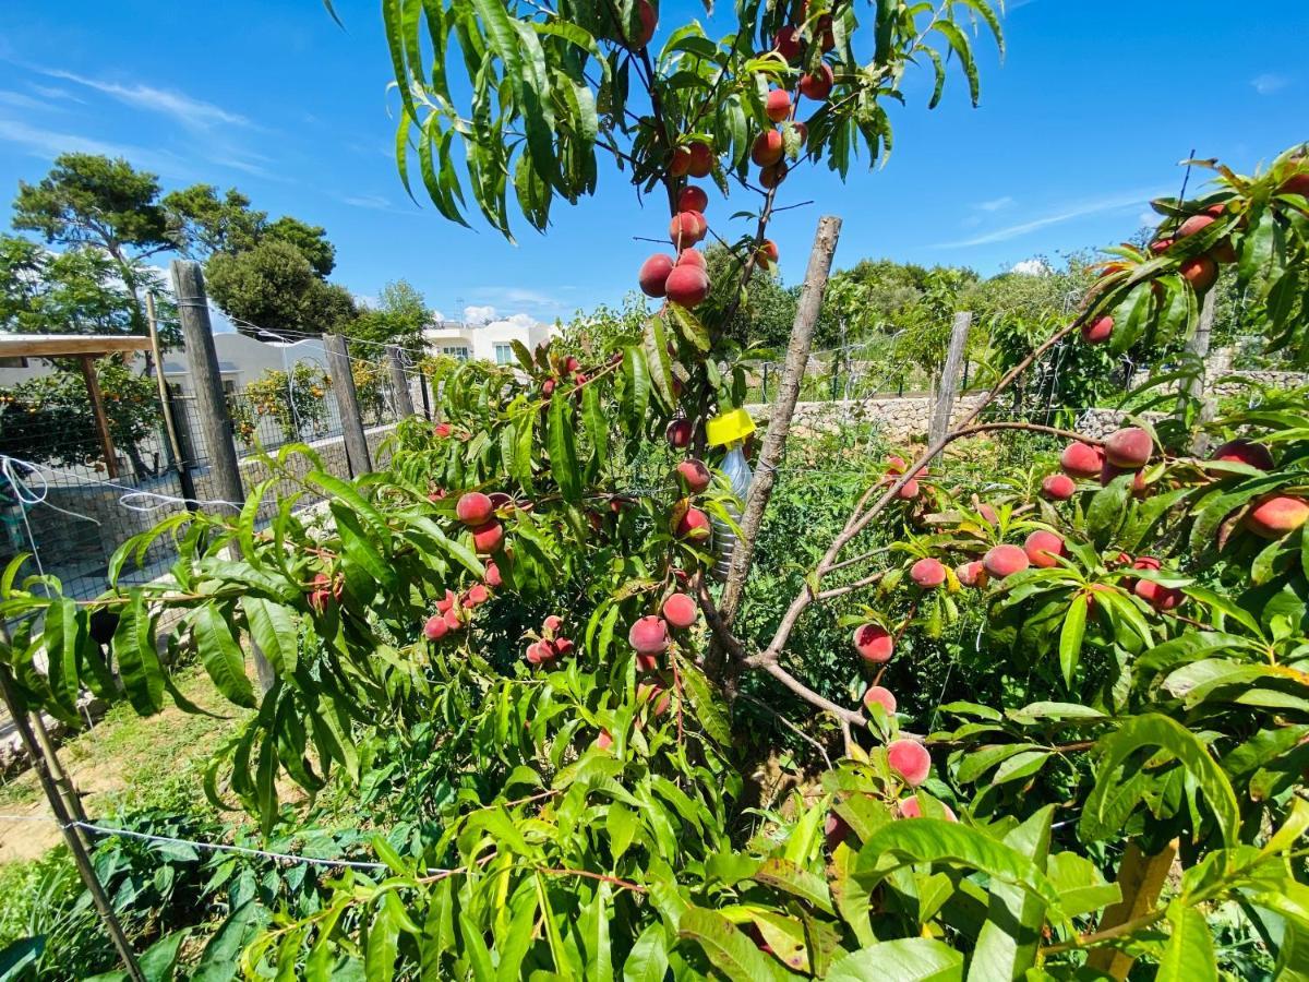
M 204 450 L 209 461 L 212 487 L 217 492 L 217 500 L 228 503 L 213 507 L 224 509 L 224 513 L 230 516 L 236 513 L 234 509 L 245 504 L 245 488 L 241 486 L 241 465 L 232 436 L 232 414 L 223 394 L 219 352 L 213 347 L 204 274 L 200 271 L 200 263 L 192 259 L 174 259 L 169 268 L 173 274 L 173 291 L 177 295 L 178 319 L 182 322 L 186 364 L 191 369 L 191 385 L 195 388 L 195 407 L 200 415 L 200 429 L 204 432 Z M 272 689 L 276 674 L 259 647 L 253 646 L 253 649 L 255 673 L 259 676 L 262 690 L 267 693 Z

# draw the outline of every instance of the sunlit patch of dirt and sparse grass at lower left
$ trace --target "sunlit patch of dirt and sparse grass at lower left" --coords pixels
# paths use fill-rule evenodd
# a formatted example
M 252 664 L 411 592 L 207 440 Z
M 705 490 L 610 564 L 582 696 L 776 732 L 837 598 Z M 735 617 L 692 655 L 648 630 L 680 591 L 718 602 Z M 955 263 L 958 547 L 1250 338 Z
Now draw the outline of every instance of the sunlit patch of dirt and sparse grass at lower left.
M 82 795 L 86 814 L 111 817 L 128 808 L 198 800 L 202 765 L 245 714 L 233 707 L 199 669 L 178 678 L 200 708 L 225 718 L 186 714 L 174 706 L 141 719 L 117 706 L 92 729 L 64 742 L 59 758 Z M 63 841 L 34 771 L 0 787 L 0 863 L 35 859 Z

